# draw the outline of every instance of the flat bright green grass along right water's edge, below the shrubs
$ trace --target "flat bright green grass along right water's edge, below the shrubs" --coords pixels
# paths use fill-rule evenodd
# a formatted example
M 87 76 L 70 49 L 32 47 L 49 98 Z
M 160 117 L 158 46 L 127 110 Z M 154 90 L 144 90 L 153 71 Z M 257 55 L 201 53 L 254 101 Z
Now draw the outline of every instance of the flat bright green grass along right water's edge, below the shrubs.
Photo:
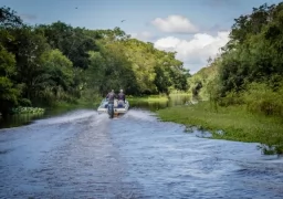
M 244 106 L 218 107 L 216 111 L 209 102 L 202 102 L 159 109 L 157 114 L 165 122 L 208 129 L 213 138 L 260 143 L 266 146 L 263 148 L 264 154 L 283 154 L 282 118 L 253 115 Z M 220 135 L 218 130 L 223 130 L 224 134 Z

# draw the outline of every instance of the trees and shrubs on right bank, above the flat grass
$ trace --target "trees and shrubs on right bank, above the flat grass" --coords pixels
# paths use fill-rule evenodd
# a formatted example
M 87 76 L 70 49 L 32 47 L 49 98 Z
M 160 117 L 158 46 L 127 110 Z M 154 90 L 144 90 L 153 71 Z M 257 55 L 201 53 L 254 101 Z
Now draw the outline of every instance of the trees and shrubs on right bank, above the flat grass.
M 216 105 L 283 116 L 283 2 L 234 20 L 222 53 L 190 80 L 192 93 Z

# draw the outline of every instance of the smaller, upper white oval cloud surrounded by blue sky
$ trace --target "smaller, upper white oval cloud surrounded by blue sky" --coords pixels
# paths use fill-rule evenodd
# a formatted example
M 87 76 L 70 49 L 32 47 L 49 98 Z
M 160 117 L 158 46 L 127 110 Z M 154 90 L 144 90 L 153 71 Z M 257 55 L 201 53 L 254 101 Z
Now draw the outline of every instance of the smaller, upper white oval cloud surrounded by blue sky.
M 171 33 L 195 33 L 198 29 L 182 15 L 169 15 L 166 19 L 156 18 L 151 21 L 163 32 Z

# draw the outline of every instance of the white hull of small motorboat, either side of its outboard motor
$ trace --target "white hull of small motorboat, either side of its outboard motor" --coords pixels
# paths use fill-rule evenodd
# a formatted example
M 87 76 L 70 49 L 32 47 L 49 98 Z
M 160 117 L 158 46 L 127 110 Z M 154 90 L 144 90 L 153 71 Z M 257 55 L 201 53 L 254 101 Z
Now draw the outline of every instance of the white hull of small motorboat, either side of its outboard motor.
M 129 108 L 128 101 L 125 103 L 118 102 L 118 100 L 114 100 L 114 114 L 125 114 Z M 101 105 L 97 108 L 98 113 L 108 113 L 108 101 L 106 98 L 102 100 Z

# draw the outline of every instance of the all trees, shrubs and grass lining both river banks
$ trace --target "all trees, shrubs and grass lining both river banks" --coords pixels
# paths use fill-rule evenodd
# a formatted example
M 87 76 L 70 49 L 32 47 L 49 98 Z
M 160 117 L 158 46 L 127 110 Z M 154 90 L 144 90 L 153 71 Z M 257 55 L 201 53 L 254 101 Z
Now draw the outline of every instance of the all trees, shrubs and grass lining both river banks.
M 216 138 L 258 142 L 265 154 L 283 154 L 282 35 L 283 3 L 254 8 L 234 20 L 221 53 L 191 75 L 175 52 L 119 28 L 87 30 L 61 21 L 29 25 L 2 7 L 1 117 L 94 107 L 111 88 L 124 88 L 140 104 L 149 95 L 150 102 L 166 104 L 182 92 L 191 96 L 182 105 L 151 111 L 164 121 L 212 130 Z

